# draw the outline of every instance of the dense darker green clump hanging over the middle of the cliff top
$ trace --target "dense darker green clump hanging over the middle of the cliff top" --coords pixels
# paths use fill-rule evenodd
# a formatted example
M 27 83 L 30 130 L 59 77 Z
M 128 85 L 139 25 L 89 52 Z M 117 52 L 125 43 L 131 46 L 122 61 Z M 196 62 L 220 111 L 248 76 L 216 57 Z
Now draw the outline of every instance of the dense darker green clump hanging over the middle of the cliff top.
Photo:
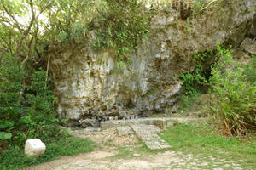
M 99 26 L 96 26 L 96 40 L 92 45 L 98 50 L 113 48 L 119 66 L 125 67 L 123 61 L 131 60 L 129 54 L 137 49 L 138 38 L 148 34 L 148 14 L 137 0 L 107 0 L 107 8 L 98 17 Z

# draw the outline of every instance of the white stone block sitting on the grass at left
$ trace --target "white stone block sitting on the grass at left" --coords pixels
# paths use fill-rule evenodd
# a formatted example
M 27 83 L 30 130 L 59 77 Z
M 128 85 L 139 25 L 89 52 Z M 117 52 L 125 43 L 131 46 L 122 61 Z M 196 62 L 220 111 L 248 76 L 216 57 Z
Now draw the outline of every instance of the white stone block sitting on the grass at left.
M 30 157 L 44 155 L 45 144 L 40 139 L 28 139 L 25 144 L 25 154 Z

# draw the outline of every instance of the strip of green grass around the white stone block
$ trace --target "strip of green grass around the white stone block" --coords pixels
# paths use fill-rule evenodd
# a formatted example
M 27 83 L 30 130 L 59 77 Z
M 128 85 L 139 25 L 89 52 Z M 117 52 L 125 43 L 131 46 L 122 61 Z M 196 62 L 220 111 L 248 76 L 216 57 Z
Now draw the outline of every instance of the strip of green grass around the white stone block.
M 24 150 L 10 148 L 0 156 L 1 170 L 15 170 L 31 165 L 52 161 L 60 156 L 73 156 L 94 149 L 93 142 L 89 139 L 61 138 L 46 144 L 44 156 L 36 158 L 26 157 Z

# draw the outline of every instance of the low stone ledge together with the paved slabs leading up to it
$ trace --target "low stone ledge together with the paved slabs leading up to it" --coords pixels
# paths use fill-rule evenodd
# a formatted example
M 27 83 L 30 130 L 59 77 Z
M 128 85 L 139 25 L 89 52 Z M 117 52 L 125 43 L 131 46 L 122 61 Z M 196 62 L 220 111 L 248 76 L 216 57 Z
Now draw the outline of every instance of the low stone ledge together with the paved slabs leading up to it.
M 192 122 L 195 120 L 198 120 L 198 118 L 143 118 L 101 122 L 100 127 L 102 129 L 116 127 L 119 137 L 135 133 L 137 138 L 141 139 L 149 149 L 160 150 L 171 148 L 171 146 L 163 139 L 160 139 L 160 136 L 157 134 L 160 133 L 161 129 L 172 126 L 174 122 Z

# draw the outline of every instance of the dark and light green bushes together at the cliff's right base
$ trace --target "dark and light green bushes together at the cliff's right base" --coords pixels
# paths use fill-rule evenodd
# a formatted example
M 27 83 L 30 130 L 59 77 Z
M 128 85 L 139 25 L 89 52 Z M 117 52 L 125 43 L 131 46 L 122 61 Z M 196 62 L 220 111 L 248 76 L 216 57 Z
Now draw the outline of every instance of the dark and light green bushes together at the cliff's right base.
M 232 54 L 231 48 L 218 45 L 214 52 L 195 55 L 195 71 L 180 75 L 183 81 L 183 105 L 191 106 L 202 87 L 212 101 L 207 107 L 224 133 L 237 136 L 251 136 L 256 132 L 256 58 L 242 63 Z M 212 59 L 204 68 L 201 61 Z

